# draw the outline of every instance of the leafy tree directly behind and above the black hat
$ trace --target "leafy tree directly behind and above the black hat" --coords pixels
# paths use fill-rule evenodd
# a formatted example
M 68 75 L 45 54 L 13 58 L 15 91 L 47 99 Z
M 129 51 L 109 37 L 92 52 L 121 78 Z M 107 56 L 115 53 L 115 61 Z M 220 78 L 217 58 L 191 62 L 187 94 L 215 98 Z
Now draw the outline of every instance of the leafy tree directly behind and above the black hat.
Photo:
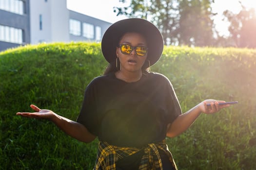
M 179 18 L 177 2 L 178 0 L 131 0 L 127 7 L 114 7 L 114 12 L 117 15 L 150 20 L 158 26 L 165 44 L 171 44 L 177 41 L 174 36 Z

